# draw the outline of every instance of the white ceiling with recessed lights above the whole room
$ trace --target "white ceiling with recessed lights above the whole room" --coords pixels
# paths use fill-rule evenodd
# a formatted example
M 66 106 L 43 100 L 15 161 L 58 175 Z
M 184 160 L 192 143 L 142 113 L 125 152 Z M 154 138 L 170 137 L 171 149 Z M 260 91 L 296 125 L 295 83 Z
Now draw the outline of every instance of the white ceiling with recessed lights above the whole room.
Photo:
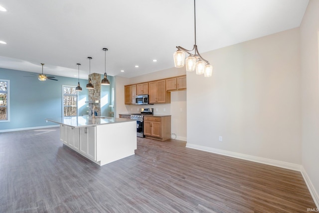
M 309 0 L 197 0 L 200 53 L 300 26 Z M 193 0 L 0 0 L 0 67 L 86 79 L 171 68 L 194 44 Z M 158 62 L 153 62 L 157 59 Z M 139 65 L 139 68 L 135 68 Z M 120 70 L 125 70 L 121 72 Z

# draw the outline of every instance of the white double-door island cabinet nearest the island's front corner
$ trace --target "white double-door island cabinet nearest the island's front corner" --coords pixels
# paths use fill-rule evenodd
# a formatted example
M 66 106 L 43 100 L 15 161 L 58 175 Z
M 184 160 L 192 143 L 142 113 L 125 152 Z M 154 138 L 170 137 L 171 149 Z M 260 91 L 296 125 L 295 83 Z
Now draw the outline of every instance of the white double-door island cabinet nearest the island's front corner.
M 80 153 L 91 159 L 96 160 L 96 128 L 95 126 L 81 127 L 80 129 Z

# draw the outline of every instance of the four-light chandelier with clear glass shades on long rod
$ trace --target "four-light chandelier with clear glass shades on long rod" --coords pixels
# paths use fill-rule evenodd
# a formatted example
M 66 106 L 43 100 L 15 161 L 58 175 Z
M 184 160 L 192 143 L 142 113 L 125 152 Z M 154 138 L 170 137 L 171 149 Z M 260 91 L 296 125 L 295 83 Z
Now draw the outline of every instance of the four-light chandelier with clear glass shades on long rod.
M 185 52 L 189 54 L 186 58 L 186 71 L 194 71 L 196 70 L 196 74 L 204 74 L 205 77 L 210 77 L 212 75 L 213 67 L 209 64 L 207 60 L 205 60 L 198 52 L 196 45 L 196 4 L 194 0 L 194 25 L 195 25 L 195 44 L 193 49 L 187 50 L 181 46 L 176 46 L 177 50 L 174 52 L 174 65 L 175 67 L 183 67 L 185 60 Z M 195 50 L 195 53 L 192 54 L 190 51 Z

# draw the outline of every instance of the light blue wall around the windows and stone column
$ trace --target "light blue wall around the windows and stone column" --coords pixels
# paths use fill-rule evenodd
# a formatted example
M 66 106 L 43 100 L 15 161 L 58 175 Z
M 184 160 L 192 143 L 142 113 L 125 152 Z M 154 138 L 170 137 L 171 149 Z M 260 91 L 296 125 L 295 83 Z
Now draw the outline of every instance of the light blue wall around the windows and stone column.
M 10 80 L 10 121 L 0 122 L 0 131 L 12 129 L 27 129 L 56 125 L 45 122 L 45 118 L 62 116 L 62 85 L 77 86 L 77 78 L 54 76 L 58 81 L 39 81 L 38 73 L 0 68 L 0 79 Z M 113 83 L 113 76 L 108 76 Z M 80 79 L 82 92 L 79 92 L 78 114 L 87 114 L 88 91 L 85 88 L 87 80 Z M 101 93 L 111 98 L 111 86 L 101 86 Z M 102 98 L 102 97 L 101 97 Z M 110 99 L 111 100 L 111 99 Z M 105 108 L 110 108 L 109 104 Z M 109 110 L 109 109 L 108 109 Z M 107 112 L 108 113 L 108 112 Z M 106 116 L 106 115 L 105 115 Z

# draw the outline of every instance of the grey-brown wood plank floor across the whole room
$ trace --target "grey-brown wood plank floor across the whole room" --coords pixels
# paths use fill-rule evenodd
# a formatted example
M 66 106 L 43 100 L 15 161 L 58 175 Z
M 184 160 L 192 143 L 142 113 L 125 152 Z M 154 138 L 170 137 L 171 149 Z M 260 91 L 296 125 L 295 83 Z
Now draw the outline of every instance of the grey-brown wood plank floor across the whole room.
M 138 140 L 99 167 L 59 129 L 0 133 L 0 213 L 294 213 L 316 208 L 300 172 Z

